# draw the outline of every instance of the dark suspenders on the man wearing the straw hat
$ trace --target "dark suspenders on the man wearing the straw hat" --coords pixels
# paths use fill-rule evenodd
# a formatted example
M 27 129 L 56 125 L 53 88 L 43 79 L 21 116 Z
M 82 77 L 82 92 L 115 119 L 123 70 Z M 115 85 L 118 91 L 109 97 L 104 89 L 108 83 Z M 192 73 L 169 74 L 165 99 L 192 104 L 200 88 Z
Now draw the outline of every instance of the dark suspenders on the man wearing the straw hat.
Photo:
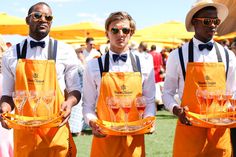
M 222 61 L 222 57 L 220 55 L 220 51 L 219 48 L 217 46 L 217 44 L 214 42 L 214 46 L 216 48 L 216 55 L 217 55 L 217 59 L 218 62 L 223 62 Z M 185 80 L 186 77 L 186 71 L 185 71 L 185 66 L 184 66 L 184 58 L 183 58 L 183 51 L 182 51 L 182 47 L 180 47 L 179 49 L 179 60 L 180 60 L 180 65 L 181 65 L 181 69 L 182 69 L 182 74 Z M 228 51 L 226 49 L 225 50 L 225 58 L 226 58 L 226 79 L 227 79 L 227 75 L 228 75 L 228 70 L 229 70 L 229 54 Z M 193 39 L 190 40 L 189 45 L 188 45 L 188 62 L 194 62 L 194 55 L 193 55 Z

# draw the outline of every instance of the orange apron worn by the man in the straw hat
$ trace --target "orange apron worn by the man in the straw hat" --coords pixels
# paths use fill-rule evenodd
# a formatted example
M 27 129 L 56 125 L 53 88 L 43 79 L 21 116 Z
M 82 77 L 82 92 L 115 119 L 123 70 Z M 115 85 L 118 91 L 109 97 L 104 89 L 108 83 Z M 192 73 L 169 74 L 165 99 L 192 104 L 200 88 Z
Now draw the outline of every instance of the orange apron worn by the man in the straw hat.
M 190 47 L 193 46 L 191 42 L 189 44 Z M 192 58 L 190 60 L 193 61 L 193 48 L 189 48 L 189 50 L 189 58 Z M 216 50 L 219 61 L 218 48 Z M 225 89 L 225 68 L 223 63 L 193 63 L 192 61 L 187 64 L 181 106 L 188 106 L 189 111 L 199 113 L 200 108 L 196 98 L 196 89 L 198 87 L 211 91 Z M 178 121 L 175 131 L 173 156 L 230 157 L 230 130 L 227 128 L 207 129 L 187 126 Z

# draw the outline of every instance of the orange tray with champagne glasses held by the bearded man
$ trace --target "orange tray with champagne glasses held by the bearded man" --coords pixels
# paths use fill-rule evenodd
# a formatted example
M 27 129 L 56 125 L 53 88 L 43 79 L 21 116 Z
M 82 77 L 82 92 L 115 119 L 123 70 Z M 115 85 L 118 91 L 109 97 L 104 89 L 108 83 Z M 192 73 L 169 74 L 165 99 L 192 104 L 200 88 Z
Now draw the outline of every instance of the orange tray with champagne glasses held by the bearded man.
M 1 115 L 11 128 L 49 128 L 56 127 L 62 122 L 64 112 L 53 113 L 54 90 L 43 92 L 16 90 L 12 93 L 12 98 L 17 114 L 3 113 Z M 27 107 L 26 102 L 28 102 Z

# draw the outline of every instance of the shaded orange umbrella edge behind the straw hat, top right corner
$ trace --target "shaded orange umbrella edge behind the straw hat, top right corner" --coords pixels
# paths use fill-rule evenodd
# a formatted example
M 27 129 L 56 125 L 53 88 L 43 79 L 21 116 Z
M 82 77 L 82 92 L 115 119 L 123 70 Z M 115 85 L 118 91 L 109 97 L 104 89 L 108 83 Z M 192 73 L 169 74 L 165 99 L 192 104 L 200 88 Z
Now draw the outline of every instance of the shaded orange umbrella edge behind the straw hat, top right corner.
M 214 0 L 215 2 L 226 5 L 229 9 L 229 15 L 225 21 L 218 27 L 219 35 L 225 35 L 236 32 L 236 0 Z

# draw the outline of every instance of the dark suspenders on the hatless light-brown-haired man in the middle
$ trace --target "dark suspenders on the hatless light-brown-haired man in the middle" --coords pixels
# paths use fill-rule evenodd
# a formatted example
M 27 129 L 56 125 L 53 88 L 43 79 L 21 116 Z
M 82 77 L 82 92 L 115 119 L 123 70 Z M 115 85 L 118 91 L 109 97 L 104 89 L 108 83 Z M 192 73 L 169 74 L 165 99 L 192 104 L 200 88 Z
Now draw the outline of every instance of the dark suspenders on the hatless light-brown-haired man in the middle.
M 141 65 L 140 65 L 139 57 L 137 55 L 135 55 L 135 59 L 136 59 L 136 62 L 135 62 L 134 55 L 132 53 L 130 53 L 130 59 L 131 59 L 133 71 L 141 73 Z M 98 58 L 98 65 L 99 65 L 99 69 L 100 69 L 100 75 L 102 77 L 103 72 L 109 71 L 109 52 L 107 52 L 105 55 L 104 69 L 103 69 L 101 57 Z

